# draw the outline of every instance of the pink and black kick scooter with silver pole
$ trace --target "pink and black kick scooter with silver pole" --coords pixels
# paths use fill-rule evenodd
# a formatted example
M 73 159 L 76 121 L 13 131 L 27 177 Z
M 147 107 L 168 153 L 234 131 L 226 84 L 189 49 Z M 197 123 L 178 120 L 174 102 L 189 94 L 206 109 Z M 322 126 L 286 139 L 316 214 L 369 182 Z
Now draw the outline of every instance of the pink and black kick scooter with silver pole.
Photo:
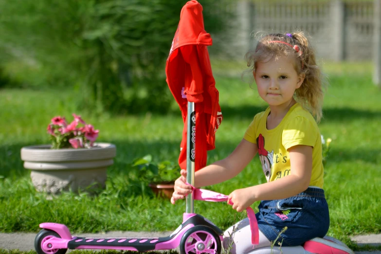
M 195 115 L 195 104 L 188 102 L 188 116 Z M 195 161 L 192 149 L 192 128 L 195 118 L 188 117 L 187 122 L 187 178 L 194 185 Z M 37 254 L 65 254 L 68 249 L 128 250 L 147 252 L 171 250 L 180 246 L 181 254 L 220 254 L 223 232 L 201 215 L 193 213 L 194 194 L 186 197 L 186 210 L 181 225 L 167 237 L 81 237 L 72 236 L 68 227 L 57 223 L 41 223 L 42 230 L 35 238 Z

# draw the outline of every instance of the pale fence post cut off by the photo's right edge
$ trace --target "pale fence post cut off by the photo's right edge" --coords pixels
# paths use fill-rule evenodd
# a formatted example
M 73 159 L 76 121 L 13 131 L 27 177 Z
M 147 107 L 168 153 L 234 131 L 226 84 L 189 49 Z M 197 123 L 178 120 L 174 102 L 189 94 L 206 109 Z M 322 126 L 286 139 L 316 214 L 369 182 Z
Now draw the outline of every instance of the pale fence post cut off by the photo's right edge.
M 381 88 L 381 1 L 374 0 L 374 73 L 373 82 Z

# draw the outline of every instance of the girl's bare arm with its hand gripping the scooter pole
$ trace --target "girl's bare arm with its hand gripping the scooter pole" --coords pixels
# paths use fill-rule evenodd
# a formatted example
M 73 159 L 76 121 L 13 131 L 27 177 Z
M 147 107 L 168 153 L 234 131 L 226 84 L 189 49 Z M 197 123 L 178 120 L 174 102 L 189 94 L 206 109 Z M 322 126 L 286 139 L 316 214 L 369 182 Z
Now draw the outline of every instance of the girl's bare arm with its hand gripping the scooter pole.
M 225 159 L 212 163 L 195 173 L 195 187 L 208 186 L 229 180 L 238 175 L 258 152 L 256 144 L 247 140 L 237 145 L 236 149 Z M 185 184 L 186 170 L 181 170 L 181 177 L 175 181 L 174 193 L 171 202 L 183 199 L 191 193 L 190 186 Z

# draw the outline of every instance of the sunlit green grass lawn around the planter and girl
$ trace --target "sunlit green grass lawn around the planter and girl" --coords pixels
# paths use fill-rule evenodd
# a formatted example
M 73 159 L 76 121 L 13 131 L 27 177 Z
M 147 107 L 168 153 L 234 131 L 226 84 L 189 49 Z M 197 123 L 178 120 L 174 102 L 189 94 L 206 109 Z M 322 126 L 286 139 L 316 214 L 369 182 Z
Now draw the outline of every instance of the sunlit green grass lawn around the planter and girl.
M 212 62 L 212 67 L 214 67 Z M 217 65 L 217 63 L 216 63 Z M 218 69 L 222 69 L 220 63 Z M 225 66 L 226 67 L 226 66 Z M 244 65 L 231 72 L 216 71 L 224 120 L 208 163 L 225 158 L 240 142 L 254 114 L 265 109 L 255 89 L 242 81 Z M 352 248 L 349 236 L 381 233 L 381 91 L 371 83 L 369 63 L 325 64 L 330 86 L 320 131 L 332 138 L 325 168 L 325 190 L 330 208 L 328 234 Z M 71 232 L 112 230 L 172 231 L 181 223 L 185 202 L 171 205 L 154 198 L 149 190 L 131 181 L 129 163 L 151 154 L 154 161 L 177 161 L 182 119 L 176 105 L 167 115 L 95 116 L 76 110 L 71 91 L 0 90 L 0 232 L 38 232 L 41 222 L 66 224 Z M 90 197 L 65 193 L 53 200 L 36 193 L 29 171 L 23 169 L 20 148 L 47 144 L 46 127 L 55 115 L 81 114 L 100 130 L 98 141 L 117 146 L 115 163 L 108 170 L 105 190 Z M 210 188 L 229 194 L 265 181 L 255 158 L 236 178 Z M 256 209 L 256 205 L 253 208 Z M 225 203 L 195 201 L 195 212 L 221 229 L 234 223 L 236 212 Z M 369 248 L 368 248 L 369 249 Z

